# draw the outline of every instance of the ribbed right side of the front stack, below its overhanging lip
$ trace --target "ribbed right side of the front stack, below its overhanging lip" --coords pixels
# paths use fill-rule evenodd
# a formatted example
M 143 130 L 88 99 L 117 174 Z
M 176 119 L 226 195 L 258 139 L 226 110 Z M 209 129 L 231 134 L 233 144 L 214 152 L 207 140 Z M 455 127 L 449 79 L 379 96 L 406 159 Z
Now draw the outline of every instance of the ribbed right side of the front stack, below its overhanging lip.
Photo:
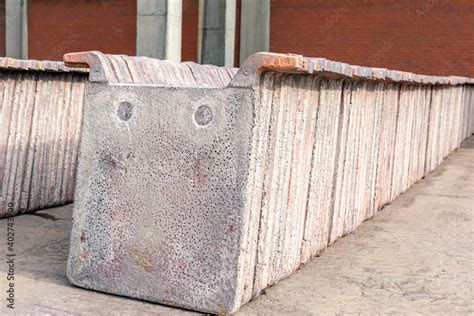
M 467 136 L 473 88 L 265 73 L 242 303 L 439 165 Z

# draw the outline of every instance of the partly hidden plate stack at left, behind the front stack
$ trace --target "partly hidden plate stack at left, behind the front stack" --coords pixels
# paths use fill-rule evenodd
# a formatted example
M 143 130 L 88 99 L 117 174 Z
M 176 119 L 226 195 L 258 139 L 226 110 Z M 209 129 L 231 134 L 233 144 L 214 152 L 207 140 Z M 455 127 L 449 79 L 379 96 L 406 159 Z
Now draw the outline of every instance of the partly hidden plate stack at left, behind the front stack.
M 0 217 L 70 203 L 87 69 L 0 61 Z

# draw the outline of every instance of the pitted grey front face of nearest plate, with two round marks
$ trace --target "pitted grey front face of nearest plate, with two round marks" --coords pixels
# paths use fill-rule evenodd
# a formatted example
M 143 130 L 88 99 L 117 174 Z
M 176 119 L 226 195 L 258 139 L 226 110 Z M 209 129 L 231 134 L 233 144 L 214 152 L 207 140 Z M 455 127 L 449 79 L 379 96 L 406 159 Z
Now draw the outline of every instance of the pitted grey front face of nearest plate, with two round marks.
M 74 284 L 209 312 L 233 306 L 252 122 L 244 92 L 90 86 Z

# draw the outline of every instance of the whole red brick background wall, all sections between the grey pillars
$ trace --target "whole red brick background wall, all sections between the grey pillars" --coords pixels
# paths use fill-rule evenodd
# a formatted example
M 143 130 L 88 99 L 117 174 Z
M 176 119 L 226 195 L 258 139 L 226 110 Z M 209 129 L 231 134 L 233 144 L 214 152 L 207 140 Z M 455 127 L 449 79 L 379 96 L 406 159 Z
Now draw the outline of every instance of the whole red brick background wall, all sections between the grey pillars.
M 241 0 L 235 3 L 234 64 L 239 66 L 240 43 L 257 32 L 241 34 L 245 14 Z M 66 52 L 84 50 L 137 52 L 136 0 L 29 0 L 27 16 L 28 58 L 61 60 Z M 0 0 L 0 34 L 6 34 L 7 19 L 5 0 Z M 199 61 L 199 0 L 182 0 L 180 25 L 181 60 Z M 1 55 L 6 44 L 3 35 Z M 271 0 L 269 50 L 474 77 L 474 1 Z

